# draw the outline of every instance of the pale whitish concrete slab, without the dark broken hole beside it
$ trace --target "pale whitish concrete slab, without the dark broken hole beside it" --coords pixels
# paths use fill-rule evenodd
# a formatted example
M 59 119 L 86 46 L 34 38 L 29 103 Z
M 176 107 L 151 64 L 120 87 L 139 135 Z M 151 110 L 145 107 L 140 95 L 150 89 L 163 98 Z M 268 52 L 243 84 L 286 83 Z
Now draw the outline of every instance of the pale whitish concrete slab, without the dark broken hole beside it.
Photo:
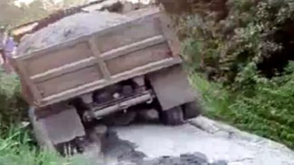
M 224 124 L 205 123 L 206 128 L 203 125 L 197 128 L 195 124 L 135 124 L 110 129 L 119 139 L 133 144 L 136 152 L 145 155 L 145 160 L 198 152 L 206 155 L 208 162 L 224 159 L 229 165 L 294 165 L 293 151 L 282 144 Z

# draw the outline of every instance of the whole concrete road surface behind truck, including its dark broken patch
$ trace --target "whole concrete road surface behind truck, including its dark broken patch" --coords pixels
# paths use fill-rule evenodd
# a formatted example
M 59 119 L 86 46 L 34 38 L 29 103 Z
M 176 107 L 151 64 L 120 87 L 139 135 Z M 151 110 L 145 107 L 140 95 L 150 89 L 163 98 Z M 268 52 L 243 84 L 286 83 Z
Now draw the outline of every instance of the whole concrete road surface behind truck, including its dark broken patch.
M 293 151 L 282 144 L 205 117 L 182 126 L 133 124 L 112 127 L 104 153 L 103 164 L 118 165 L 200 165 L 195 159 L 202 156 L 207 157 L 204 164 L 225 160 L 229 165 L 294 165 Z M 190 163 L 183 162 L 182 157 L 188 157 Z M 164 163 L 163 159 L 169 160 Z

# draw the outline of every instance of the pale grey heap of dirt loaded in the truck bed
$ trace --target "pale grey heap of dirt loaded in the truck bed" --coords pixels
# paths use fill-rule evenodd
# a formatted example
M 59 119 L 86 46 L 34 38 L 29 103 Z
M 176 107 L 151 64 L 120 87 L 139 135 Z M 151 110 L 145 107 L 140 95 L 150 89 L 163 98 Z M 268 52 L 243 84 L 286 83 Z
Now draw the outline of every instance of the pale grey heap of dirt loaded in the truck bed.
M 112 12 L 81 12 L 50 24 L 21 39 L 17 55 L 47 48 L 127 21 L 123 14 Z

